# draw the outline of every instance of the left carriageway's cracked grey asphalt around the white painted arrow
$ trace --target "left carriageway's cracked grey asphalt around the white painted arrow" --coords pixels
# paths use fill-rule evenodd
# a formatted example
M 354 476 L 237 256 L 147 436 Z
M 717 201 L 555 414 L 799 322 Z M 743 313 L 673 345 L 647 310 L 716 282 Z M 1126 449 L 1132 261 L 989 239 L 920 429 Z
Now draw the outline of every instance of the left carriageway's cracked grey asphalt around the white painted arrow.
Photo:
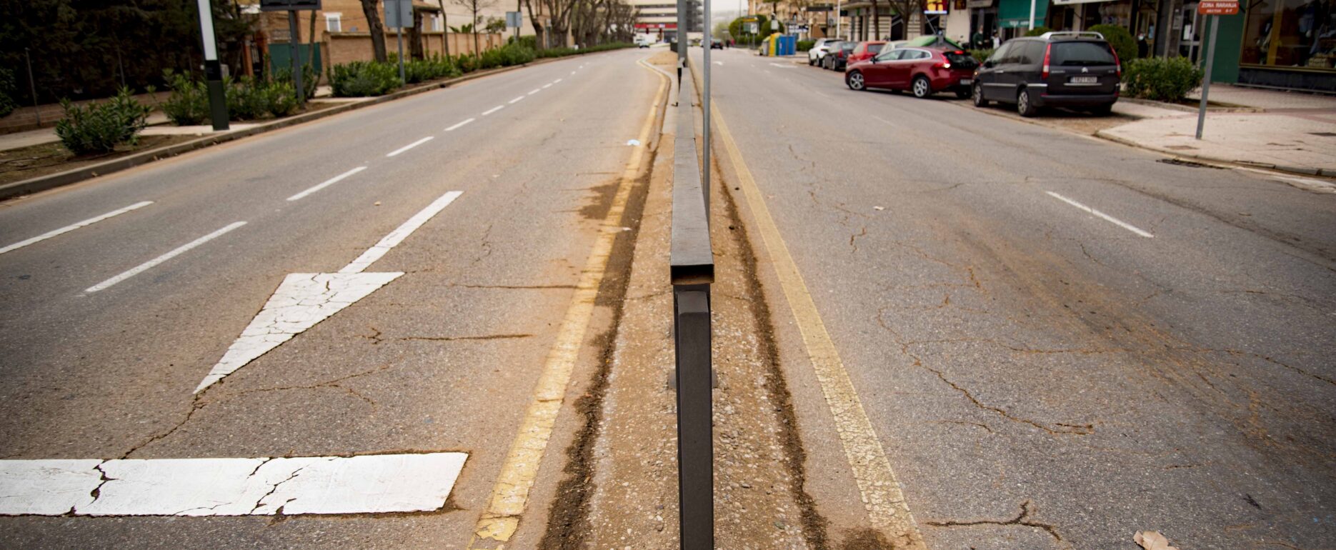
M 11 517 L 0 546 L 465 547 L 659 87 L 644 56 L 538 64 L 0 204 L 8 246 L 152 202 L 0 254 L 4 458 L 469 453 L 440 513 Z M 285 275 L 338 271 L 448 191 L 366 270 L 406 275 L 191 394 Z M 542 534 L 574 427 L 565 407 L 516 547 Z

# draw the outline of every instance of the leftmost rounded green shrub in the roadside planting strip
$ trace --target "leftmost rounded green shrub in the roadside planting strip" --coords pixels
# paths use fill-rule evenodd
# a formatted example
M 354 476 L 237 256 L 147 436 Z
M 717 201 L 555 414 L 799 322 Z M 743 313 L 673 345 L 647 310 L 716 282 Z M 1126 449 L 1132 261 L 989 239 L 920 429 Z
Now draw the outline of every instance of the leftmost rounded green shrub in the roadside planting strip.
M 122 143 L 135 144 L 151 111 L 120 88 L 111 100 L 84 107 L 60 101 L 65 117 L 56 121 L 56 136 L 75 155 L 111 152 Z

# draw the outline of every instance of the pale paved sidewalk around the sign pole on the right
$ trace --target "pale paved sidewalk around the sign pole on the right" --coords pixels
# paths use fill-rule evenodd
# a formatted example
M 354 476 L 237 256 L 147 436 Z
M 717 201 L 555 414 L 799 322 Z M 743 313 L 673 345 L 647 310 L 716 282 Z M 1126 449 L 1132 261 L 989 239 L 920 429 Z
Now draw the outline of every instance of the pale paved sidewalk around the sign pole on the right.
M 1259 112 L 1208 112 L 1197 140 L 1194 112 L 1120 101 L 1116 111 L 1141 120 L 1096 135 L 1201 160 L 1336 176 L 1336 97 L 1213 85 L 1210 100 Z

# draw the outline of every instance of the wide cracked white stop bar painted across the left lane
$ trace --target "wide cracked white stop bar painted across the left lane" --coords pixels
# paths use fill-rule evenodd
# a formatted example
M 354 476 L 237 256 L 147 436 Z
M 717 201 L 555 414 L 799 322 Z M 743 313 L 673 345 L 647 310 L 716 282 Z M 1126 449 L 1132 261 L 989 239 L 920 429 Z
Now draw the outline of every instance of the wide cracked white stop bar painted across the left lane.
M 430 511 L 464 453 L 297 458 L 0 461 L 3 515 L 285 515 Z

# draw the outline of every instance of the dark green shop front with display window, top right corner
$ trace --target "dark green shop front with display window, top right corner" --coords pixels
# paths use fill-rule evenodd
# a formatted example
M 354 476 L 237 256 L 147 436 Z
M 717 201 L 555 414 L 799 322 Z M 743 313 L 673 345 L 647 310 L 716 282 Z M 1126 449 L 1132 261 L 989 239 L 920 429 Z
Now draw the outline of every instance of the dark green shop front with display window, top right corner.
M 1336 92 L 1336 0 L 1245 5 L 1240 84 Z

